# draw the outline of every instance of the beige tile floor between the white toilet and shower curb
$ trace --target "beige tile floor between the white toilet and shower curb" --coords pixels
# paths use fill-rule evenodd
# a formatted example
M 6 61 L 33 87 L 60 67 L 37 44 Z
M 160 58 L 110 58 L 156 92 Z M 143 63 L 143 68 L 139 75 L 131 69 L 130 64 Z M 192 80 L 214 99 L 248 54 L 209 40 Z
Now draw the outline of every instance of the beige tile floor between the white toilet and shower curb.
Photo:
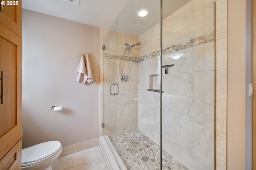
M 108 170 L 99 146 L 62 156 L 52 170 Z

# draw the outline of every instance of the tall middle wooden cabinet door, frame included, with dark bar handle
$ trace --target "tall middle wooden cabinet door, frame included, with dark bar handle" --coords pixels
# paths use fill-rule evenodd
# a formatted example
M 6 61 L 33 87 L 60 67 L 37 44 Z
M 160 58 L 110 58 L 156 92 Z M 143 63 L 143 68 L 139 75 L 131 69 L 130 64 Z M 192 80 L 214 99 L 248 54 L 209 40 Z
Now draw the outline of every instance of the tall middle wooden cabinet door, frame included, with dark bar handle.
M 0 104 L 0 159 L 22 137 L 21 44 L 21 38 L 0 23 L 0 71 L 5 72 L 5 90 L 0 92 L 5 96 Z

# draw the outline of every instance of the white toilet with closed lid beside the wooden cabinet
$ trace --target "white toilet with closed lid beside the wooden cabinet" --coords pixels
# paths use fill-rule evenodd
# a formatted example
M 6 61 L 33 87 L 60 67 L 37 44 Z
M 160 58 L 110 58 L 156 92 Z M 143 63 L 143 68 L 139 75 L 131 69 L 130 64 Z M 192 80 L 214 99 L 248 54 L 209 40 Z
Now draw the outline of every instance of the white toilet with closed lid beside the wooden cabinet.
M 22 170 L 52 170 L 62 152 L 59 141 L 49 141 L 22 149 Z

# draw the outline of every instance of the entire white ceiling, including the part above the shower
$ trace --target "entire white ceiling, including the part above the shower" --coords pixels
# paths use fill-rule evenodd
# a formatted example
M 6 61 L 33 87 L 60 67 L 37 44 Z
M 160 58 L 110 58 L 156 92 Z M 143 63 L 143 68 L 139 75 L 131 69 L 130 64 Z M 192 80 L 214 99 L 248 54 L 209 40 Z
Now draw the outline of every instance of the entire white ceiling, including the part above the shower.
M 189 1 L 163 0 L 163 18 Z M 160 22 L 160 0 L 80 0 L 79 5 L 64 0 L 22 0 L 22 8 L 106 29 L 117 19 L 112 29 L 133 36 L 140 36 Z M 150 14 L 140 18 L 136 15 L 140 8 L 148 8 Z M 139 20 L 150 24 L 138 25 Z

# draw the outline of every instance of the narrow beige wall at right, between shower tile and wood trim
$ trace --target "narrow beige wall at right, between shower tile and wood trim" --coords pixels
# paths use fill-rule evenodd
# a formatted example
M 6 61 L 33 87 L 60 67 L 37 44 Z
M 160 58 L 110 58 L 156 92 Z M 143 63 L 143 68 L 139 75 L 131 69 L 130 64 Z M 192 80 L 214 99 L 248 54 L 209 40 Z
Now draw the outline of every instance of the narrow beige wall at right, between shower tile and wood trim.
M 246 159 L 251 159 L 246 152 L 246 147 L 248 147 L 246 146 L 248 144 L 246 141 L 248 138 L 246 136 L 246 121 L 248 121 L 246 114 L 251 114 L 251 105 L 248 105 L 251 97 L 248 99 L 247 88 L 251 71 L 246 70 L 246 67 L 251 65 L 251 62 L 246 61 L 251 57 L 248 55 L 250 53 L 250 38 L 246 37 L 251 23 L 251 18 L 246 16 L 246 11 L 250 10 L 246 8 L 246 5 L 251 7 L 250 3 L 250 0 L 228 1 L 228 170 L 251 169 L 251 165 L 246 164 L 248 162 Z

